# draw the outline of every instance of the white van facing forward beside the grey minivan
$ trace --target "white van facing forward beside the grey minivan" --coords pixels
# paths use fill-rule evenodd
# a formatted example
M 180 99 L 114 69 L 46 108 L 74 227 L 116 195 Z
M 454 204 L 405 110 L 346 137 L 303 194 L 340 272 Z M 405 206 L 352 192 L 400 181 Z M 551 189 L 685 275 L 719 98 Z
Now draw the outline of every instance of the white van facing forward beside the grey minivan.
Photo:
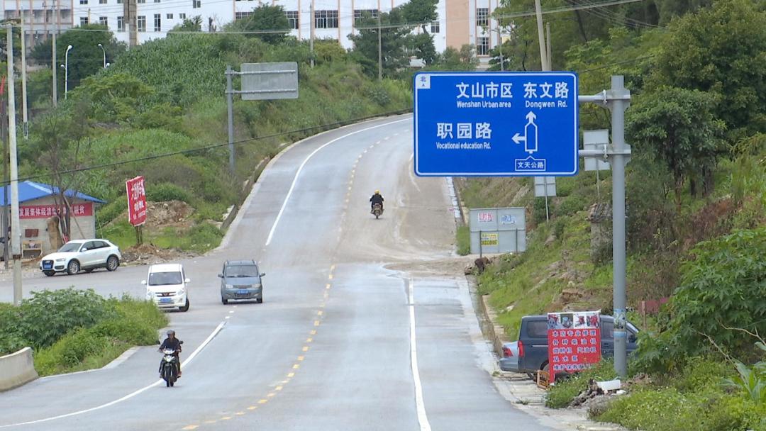
M 160 309 L 189 309 L 188 282 L 184 266 L 180 263 L 162 263 L 149 266 L 149 274 L 141 284 L 146 285 L 146 299 Z

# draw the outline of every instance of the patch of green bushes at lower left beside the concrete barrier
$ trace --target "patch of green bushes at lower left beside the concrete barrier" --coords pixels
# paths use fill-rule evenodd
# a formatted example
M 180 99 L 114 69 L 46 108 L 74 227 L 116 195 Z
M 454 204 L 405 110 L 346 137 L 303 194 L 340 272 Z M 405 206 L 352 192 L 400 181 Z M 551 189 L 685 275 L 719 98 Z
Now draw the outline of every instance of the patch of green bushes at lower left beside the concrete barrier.
M 0 354 L 30 346 L 41 376 L 103 367 L 135 345 L 156 344 L 168 318 L 148 301 L 104 299 L 92 289 L 32 292 L 0 304 Z

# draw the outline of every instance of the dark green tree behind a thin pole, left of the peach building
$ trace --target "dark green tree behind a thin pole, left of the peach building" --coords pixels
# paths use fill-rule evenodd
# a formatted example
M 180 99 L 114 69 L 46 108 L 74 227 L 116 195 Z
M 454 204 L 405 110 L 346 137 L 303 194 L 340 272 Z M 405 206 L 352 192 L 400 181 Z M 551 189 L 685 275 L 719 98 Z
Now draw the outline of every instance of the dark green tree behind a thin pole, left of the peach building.
M 362 70 L 371 77 L 378 76 L 378 22 L 381 25 L 381 51 L 383 74 L 393 77 L 409 64 L 405 46 L 410 28 L 402 27 L 401 8 L 381 13 L 378 18 L 362 18 L 358 25 L 358 34 L 349 34 L 354 42 L 352 59 L 362 65 Z

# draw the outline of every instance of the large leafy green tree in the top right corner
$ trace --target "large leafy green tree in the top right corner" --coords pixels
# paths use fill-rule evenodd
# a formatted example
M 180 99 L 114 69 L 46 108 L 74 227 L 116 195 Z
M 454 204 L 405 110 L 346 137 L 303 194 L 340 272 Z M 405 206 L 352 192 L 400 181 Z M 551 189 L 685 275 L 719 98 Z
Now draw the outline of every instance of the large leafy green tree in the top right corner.
M 766 132 L 766 10 L 752 0 L 714 2 L 670 25 L 655 84 L 719 95 L 715 116 L 732 141 Z

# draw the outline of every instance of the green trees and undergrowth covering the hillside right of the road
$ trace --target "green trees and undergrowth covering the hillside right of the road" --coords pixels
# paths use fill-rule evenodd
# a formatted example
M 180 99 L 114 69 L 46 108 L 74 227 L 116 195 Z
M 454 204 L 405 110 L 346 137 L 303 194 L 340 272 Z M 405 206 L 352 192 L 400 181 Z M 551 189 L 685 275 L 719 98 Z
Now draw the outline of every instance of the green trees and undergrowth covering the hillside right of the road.
M 624 75 L 633 96 L 627 286 L 640 348 L 628 393 L 591 416 L 644 431 L 766 429 L 766 72 L 754 63 L 766 60 L 766 9 L 658 1 L 568 14 L 552 24 L 553 68 L 578 71 L 581 94 Z M 513 22 L 506 70 L 538 70 L 537 44 L 526 43 L 536 41 L 534 17 Z M 610 126 L 599 107 L 582 106 L 580 118 L 583 129 Z M 611 314 L 609 171 L 581 165 L 557 178 L 548 218 L 528 179 L 455 182 L 465 207 L 527 208 L 528 250 L 499 256 L 478 277 L 510 338 L 522 315 Z M 659 312 L 637 312 L 660 299 Z M 610 367 L 559 382 L 548 406 L 567 407 L 591 377 L 614 377 Z

